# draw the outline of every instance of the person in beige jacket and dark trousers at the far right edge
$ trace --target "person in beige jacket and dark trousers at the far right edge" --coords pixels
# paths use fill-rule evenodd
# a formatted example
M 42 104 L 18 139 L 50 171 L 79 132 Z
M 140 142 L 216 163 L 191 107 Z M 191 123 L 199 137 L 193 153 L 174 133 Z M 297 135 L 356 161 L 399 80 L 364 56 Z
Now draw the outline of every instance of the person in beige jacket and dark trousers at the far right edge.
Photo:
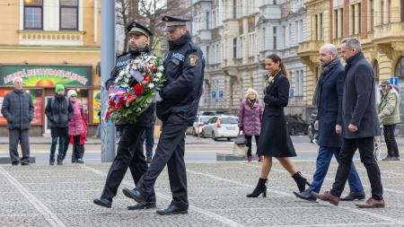
M 380 86 L 382 99 L 379 104 L 379 119 L 387 145 L 387 157 L 383 161 L 400 161 L 399 147 L 394 136 L 396 124 L 400 123 L 400 96 L 389 81 L 383 81 Z

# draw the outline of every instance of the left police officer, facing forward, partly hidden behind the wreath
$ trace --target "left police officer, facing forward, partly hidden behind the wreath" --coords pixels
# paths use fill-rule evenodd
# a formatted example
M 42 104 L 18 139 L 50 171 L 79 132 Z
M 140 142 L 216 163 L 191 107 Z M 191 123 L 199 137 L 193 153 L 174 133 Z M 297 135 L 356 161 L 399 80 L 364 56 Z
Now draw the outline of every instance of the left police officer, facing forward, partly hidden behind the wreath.
M 117 64 L 111 72 L 110 79 L 106 82 L 106 87 L 110 88 L 113 85 L 115 78 L 119 72 L 126 68 L 130 60 L 136 59 L 141 53 L 149 53 L 148 48 L 149 37 L 153 33 L 146 29 L 141 24 L 136 22 L 127 26 L 129 31 L 129 52 L 118 57 Z M 131 72 L 134 76 L 134 84 L 140 83 L 143 80 L 143 75 L 138 72 Z M 134 85 L 132 84 L 132 85 Z M 136 123 L 117 122 L 117 127 L 120 127 L 122 135 L 119 139 L 117 156 L 110 166 L 110 171 L 105 182 L 104 189 L 101 197 L 93 200 L 96 205 L 101 205 L 110 208 L 112 205 L 112 198 L 117 195 L 117 190 L 122 179 L 129 167 L 135 185 L 142 175 L 147 170 L 147 163 L 143 153 L 143 144 L 138 143 L 140 136 L 144 134 L 145 127 L 154 124 L 154 110 L 155 105 L 152 104 L 145 110 L 138 118 Z M 154 190 L 151 191 L 150 196 L 145 203 L 128 206 L 130 210 L 154 208 L 155 196 Z

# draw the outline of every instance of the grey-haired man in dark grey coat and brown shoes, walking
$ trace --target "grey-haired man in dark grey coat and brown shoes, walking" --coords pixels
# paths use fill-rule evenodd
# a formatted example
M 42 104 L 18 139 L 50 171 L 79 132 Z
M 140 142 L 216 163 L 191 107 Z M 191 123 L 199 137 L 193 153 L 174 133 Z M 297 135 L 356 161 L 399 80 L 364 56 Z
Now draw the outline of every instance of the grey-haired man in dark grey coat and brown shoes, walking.
M 312 192 L 313 196 L 333 205 L 338 205 L 339 196 L 345 187 L 352 166 L 352 159 L 359 149 L 361 162 L 371 183 L 372 197 L 359 208 L 384 207 L 382 179 L 373 156 L 373 137 L 380 135 L 379 119 L 376 113 L 376 100 L 372 66 L 364 58 L 360 42 L 355 38 L 342 41 L 341 56 L 347 61 L 345 67 L 345 90 L 342 100 L 342 135 L 344 141 L 341 162 L 332 189 L 324 194 Z

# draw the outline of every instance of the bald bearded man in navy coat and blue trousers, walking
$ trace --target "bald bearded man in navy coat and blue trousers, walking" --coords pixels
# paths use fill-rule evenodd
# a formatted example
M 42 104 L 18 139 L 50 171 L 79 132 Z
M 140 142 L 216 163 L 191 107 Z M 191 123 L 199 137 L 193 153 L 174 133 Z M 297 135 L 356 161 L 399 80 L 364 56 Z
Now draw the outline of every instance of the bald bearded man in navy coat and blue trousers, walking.
M 312 186 L 302 193 L 294 195 L 309 201 L 315 201 L 312 191 L 319 193 L 322 182 L 329 170 L 334 154 L 340 162 L 339 152 L 342 145 L 342 96 L 344 92 L 344 66 L 340 63 L 337 48 L 332 44 L 324 44 L 319 51 L 321 62 L 321 76 L 317 82 L 313 97 L 313 105 L 318 108 L 314 128 L 319 131 L 316 171 L 313 175 Z M 352 201 L 364 199 L 364 187 L 357 174 L 354 164 L 348 178 L 350 193 L 342 200 Z

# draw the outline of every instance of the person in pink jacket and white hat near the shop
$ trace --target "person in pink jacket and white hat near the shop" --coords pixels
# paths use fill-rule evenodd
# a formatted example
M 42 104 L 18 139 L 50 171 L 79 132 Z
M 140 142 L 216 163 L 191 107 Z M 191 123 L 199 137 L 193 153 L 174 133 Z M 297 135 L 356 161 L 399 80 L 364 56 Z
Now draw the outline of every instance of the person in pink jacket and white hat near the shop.
M 73 153 L 72 163 L 84 163 L 83 162 L 83 147 L 80 145 L 80 137 L 84 133 L 84 121 L 83 121 L 83 106 L 77 100 L 77 93 L 75 90 L 69 90 L 67 97 L 72 101 L 73 105 L 73 117 L 69 121 L 69 135 L 73 137 Z

